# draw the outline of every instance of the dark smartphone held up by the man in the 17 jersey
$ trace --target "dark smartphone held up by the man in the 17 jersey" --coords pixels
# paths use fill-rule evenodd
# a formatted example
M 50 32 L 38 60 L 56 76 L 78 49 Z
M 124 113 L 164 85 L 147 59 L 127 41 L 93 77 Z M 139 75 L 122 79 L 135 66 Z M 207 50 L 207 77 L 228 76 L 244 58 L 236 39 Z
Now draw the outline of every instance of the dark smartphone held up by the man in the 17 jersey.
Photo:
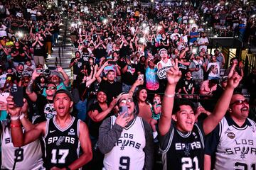
M 16 107 L 23 106 L 23 87 L 14 84 L 11 86 L 11 96 L 14 96 L 14 103 Z

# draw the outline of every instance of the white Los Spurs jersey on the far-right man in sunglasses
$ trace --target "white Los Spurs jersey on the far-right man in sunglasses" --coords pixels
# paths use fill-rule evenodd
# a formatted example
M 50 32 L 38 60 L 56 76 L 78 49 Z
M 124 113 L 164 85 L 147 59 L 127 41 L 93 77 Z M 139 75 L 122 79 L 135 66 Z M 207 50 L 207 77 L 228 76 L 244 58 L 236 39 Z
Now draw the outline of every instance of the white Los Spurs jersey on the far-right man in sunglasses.
M 256 124 L 247 120 L 243 128 L 229 125 L 225 117 L 220 121 L 215 169 L 256 169 Z

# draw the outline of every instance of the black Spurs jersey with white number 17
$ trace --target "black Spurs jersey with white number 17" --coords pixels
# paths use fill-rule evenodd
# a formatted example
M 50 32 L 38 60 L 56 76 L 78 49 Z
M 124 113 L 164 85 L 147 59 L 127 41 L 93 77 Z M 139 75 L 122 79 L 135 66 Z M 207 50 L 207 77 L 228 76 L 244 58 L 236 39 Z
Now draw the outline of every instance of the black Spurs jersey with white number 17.
M 46 169 L 53 166 L 63 168 L 78 159 L 80 151 L 79 141 L 80 120 L 72 117 L 70 125 L 62 129 L 55 122 L 55 117 L 46 120 L 46 135 L 43 137 L 45 147 Z

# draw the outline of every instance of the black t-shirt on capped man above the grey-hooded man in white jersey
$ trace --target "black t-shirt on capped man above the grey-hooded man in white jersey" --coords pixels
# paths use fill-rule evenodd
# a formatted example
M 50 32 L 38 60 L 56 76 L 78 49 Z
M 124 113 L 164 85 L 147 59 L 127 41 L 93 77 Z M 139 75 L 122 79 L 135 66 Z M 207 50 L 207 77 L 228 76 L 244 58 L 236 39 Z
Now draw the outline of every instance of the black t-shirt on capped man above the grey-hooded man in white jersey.
M 107 101 L 110 103 L 113 97 L 117 97 L 122 92 L 122 84 L 117 81 L 111 84 L 109 81 L 102 79 L 100 82 L 100 90 L 106 91 Z

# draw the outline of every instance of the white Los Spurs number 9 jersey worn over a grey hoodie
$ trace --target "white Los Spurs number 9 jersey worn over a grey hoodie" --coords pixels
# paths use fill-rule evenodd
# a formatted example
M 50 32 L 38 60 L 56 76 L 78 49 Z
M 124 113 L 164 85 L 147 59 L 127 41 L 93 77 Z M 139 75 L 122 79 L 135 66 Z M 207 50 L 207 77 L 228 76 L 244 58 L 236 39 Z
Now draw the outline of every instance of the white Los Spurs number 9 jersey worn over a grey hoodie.
M 117 119 L 111 117 L 111 128 Z M 122 130 L 121 136 L 112 150 L 105 154 L 104 169 L 143 169 L 146 145 L 146 137 L 142 118 L 137 116 L 129 127 Z

